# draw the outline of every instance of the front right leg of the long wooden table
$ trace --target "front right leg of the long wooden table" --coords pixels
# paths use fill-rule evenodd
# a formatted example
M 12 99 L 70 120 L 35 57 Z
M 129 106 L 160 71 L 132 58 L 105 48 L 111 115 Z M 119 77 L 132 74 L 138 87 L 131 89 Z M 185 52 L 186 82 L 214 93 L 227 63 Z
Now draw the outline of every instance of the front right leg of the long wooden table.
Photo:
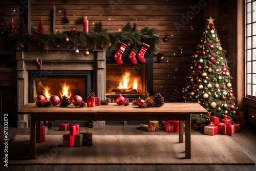
M 191 159 L 191 123 L 190 115 L 186 115 L 185 120 L 185 158 Z

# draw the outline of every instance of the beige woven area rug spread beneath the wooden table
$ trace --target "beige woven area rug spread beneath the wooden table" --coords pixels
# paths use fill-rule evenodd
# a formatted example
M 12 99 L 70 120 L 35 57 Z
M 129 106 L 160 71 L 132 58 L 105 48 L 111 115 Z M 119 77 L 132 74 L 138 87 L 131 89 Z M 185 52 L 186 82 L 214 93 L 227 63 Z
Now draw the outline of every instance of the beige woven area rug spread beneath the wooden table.
M 191 136 L 191 159 L 184 158 L 185 143 L 178 140 L 178 135 L 95 135 L 92 146 L 63 147 L 62 136 L 47 135 L 36 144 L 36 159 L 26 159 L 29 136 L 17 135 L 8 156 L 9 164 L 254 164 L 226 135 Z

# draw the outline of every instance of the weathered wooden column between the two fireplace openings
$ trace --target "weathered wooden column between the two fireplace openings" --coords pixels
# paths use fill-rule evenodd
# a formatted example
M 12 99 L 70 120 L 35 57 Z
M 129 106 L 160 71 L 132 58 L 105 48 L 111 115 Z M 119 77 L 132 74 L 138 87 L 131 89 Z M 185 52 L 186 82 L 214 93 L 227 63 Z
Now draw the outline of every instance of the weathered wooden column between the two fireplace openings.
M 96 95 L 104 100 L 106 98 L 106 50 L 93 51 L 97 51 Z

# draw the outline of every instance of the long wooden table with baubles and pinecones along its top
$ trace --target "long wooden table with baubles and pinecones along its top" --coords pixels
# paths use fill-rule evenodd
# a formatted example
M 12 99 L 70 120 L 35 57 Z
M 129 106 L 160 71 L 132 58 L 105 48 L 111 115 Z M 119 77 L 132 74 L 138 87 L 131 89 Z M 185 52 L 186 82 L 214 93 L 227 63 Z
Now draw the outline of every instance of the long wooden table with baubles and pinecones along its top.
M 198 103 L 164 103 L 160 108 L 139 108 L 137 105 L 101 105 L 93 108 L 79 108 L 69 105 L 66 108 L 50 106 L 38 108 L 35 103 L 27 103 L 18 110 L 18 115 L 31 115 L 30 127 L 30 158 L 36 154 L 36 122 L 47 120 L 106 120 L 106 121 L 147 121 L 147 120 L 179 120 L 179 142 L 183 143 L 185 121 L 185 158 L 191 158 L 190 114 L 207 114 Z

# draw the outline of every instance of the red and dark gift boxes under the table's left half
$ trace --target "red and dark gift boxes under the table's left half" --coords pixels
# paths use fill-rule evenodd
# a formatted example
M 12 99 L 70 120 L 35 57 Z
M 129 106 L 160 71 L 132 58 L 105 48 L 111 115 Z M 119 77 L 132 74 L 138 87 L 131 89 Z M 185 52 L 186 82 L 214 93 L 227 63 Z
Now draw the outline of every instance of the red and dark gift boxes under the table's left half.
M 80 133 L 79 124 L 60 123 L 59 131 L 69 131 L 69 134 L 63 135 L 63 146 L 92 146 L 93 133 Z

